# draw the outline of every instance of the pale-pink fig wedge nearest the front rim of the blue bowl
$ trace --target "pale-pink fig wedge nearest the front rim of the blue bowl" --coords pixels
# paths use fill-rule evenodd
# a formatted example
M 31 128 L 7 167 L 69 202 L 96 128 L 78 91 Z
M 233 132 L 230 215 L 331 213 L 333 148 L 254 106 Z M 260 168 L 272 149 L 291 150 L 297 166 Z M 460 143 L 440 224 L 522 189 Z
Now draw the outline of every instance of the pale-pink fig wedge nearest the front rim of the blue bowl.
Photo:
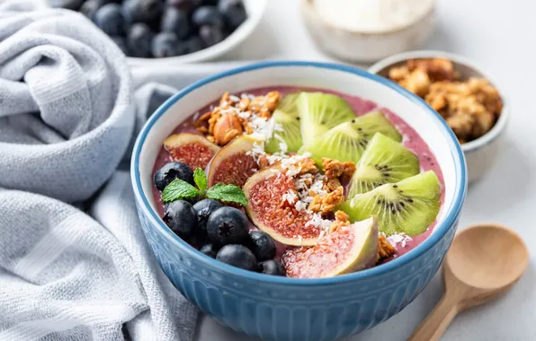
M 378 224 L 371 217 L 336 226 L 317 245 L 289 249 L 281 259 L 289 277 L 320 278 L 351 273 L 374 266 L 378 238 Z

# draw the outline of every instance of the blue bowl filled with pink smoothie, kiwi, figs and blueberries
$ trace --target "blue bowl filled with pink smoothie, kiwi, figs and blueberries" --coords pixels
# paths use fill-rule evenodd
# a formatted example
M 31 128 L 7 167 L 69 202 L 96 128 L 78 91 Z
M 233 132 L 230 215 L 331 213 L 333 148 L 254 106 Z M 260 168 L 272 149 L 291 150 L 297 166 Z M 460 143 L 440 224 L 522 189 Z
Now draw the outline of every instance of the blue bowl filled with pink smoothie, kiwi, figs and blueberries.
M 165 275 L 223 325 L 278 340 L 346 337 L 404 309 L 467 190 L 460 144 L 424 101 L 309 62 L 193 83 L 149 118 L 131 166 Z

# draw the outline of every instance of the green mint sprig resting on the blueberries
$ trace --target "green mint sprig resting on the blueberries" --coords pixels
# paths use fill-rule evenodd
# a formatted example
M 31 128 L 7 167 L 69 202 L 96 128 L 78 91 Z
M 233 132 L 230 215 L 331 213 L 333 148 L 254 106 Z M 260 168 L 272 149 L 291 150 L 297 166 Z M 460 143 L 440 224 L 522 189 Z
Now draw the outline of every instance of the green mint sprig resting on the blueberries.
M 197 188 L 182 179 L 174 179 L 162 191 L 162 201 L 170 203 L 175 200 L 208 197 L 224 203 L 247 205 L 247 198 L 241 188 L 236 185 L 218 183 L 207 188 L 207 175 L 201 168 L 193 171 L 193 181 Z

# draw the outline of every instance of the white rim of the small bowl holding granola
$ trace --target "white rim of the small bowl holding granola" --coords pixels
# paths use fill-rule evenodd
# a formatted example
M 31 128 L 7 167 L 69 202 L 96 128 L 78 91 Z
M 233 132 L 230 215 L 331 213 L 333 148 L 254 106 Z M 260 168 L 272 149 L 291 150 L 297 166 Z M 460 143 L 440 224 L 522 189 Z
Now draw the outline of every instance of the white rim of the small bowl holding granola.
M 482 74 L 484 78 L 486 78 L 490 83 L 493 84 L 493 86 L 497 89 L 499 95 L 501 96 L 501 100 L 503 101 L 503 109 L 499 114 L 499 119 L 497 119 L 495 125 L 491 128 L 491 130 L 489 130 L 486 134 L 478 137 L 475 140 L 469 141 L 466 144 L 461 144 L 461 150 L 464 153 L 469 154 L 477 152 L 479 149 L 486 146 L 487 144 L 491 144 L 493 141 L 496 140 L 497 137 L 499 137 L 503 133 L 506 127 L 506 123 L 510 118 L 510 110 L 508 109 L 508 100 L 505 91 L 498 85 L 498 83 L 496 82 L 496 78 L 490 75 L 487 71 L 482 70 L 482 68 L 477 66 L 474 61 L 469 60 L 469 58 L 467 57 L 462 57 L 460 55 L 440 50 L 415 50 L 398 53 L 396 55 L 381 59 L 379 62 L 369 67 L 368 71 L 371 74 L 378 74 L 380 71 L 388 68 L 389 66 L 393 66 L 408 59 L 433 57 L 449 59 L 454 63 L 472 69 L 478 74 Z

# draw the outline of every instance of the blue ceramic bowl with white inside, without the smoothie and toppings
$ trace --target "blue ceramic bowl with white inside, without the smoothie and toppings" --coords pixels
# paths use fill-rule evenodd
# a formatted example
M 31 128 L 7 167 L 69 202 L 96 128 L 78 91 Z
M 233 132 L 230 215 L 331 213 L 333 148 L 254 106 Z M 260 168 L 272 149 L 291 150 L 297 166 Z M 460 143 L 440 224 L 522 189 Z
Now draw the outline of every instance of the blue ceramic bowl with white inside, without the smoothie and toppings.
M 223 92 L 293 85 L 346 92 L 393 110 L 424 138 L 439 162 L 445 200 L 433 233 L 387 264 L 333 278 L 295 279 L 230 267 L 171 232 L 155 209 L 151 171 L 162 141 L 184 118 Z M 463 153 L 443 119 L 395 83 L 350 66 L 265 62 L 193 83 L 166 101 L 138 136 L 131 164 L 138 214 L 160 267 L 176 288 L 221 324 L 276 340 L 333 340 L 389 319 L 421 293 L 442 265 L 467 190 Z

